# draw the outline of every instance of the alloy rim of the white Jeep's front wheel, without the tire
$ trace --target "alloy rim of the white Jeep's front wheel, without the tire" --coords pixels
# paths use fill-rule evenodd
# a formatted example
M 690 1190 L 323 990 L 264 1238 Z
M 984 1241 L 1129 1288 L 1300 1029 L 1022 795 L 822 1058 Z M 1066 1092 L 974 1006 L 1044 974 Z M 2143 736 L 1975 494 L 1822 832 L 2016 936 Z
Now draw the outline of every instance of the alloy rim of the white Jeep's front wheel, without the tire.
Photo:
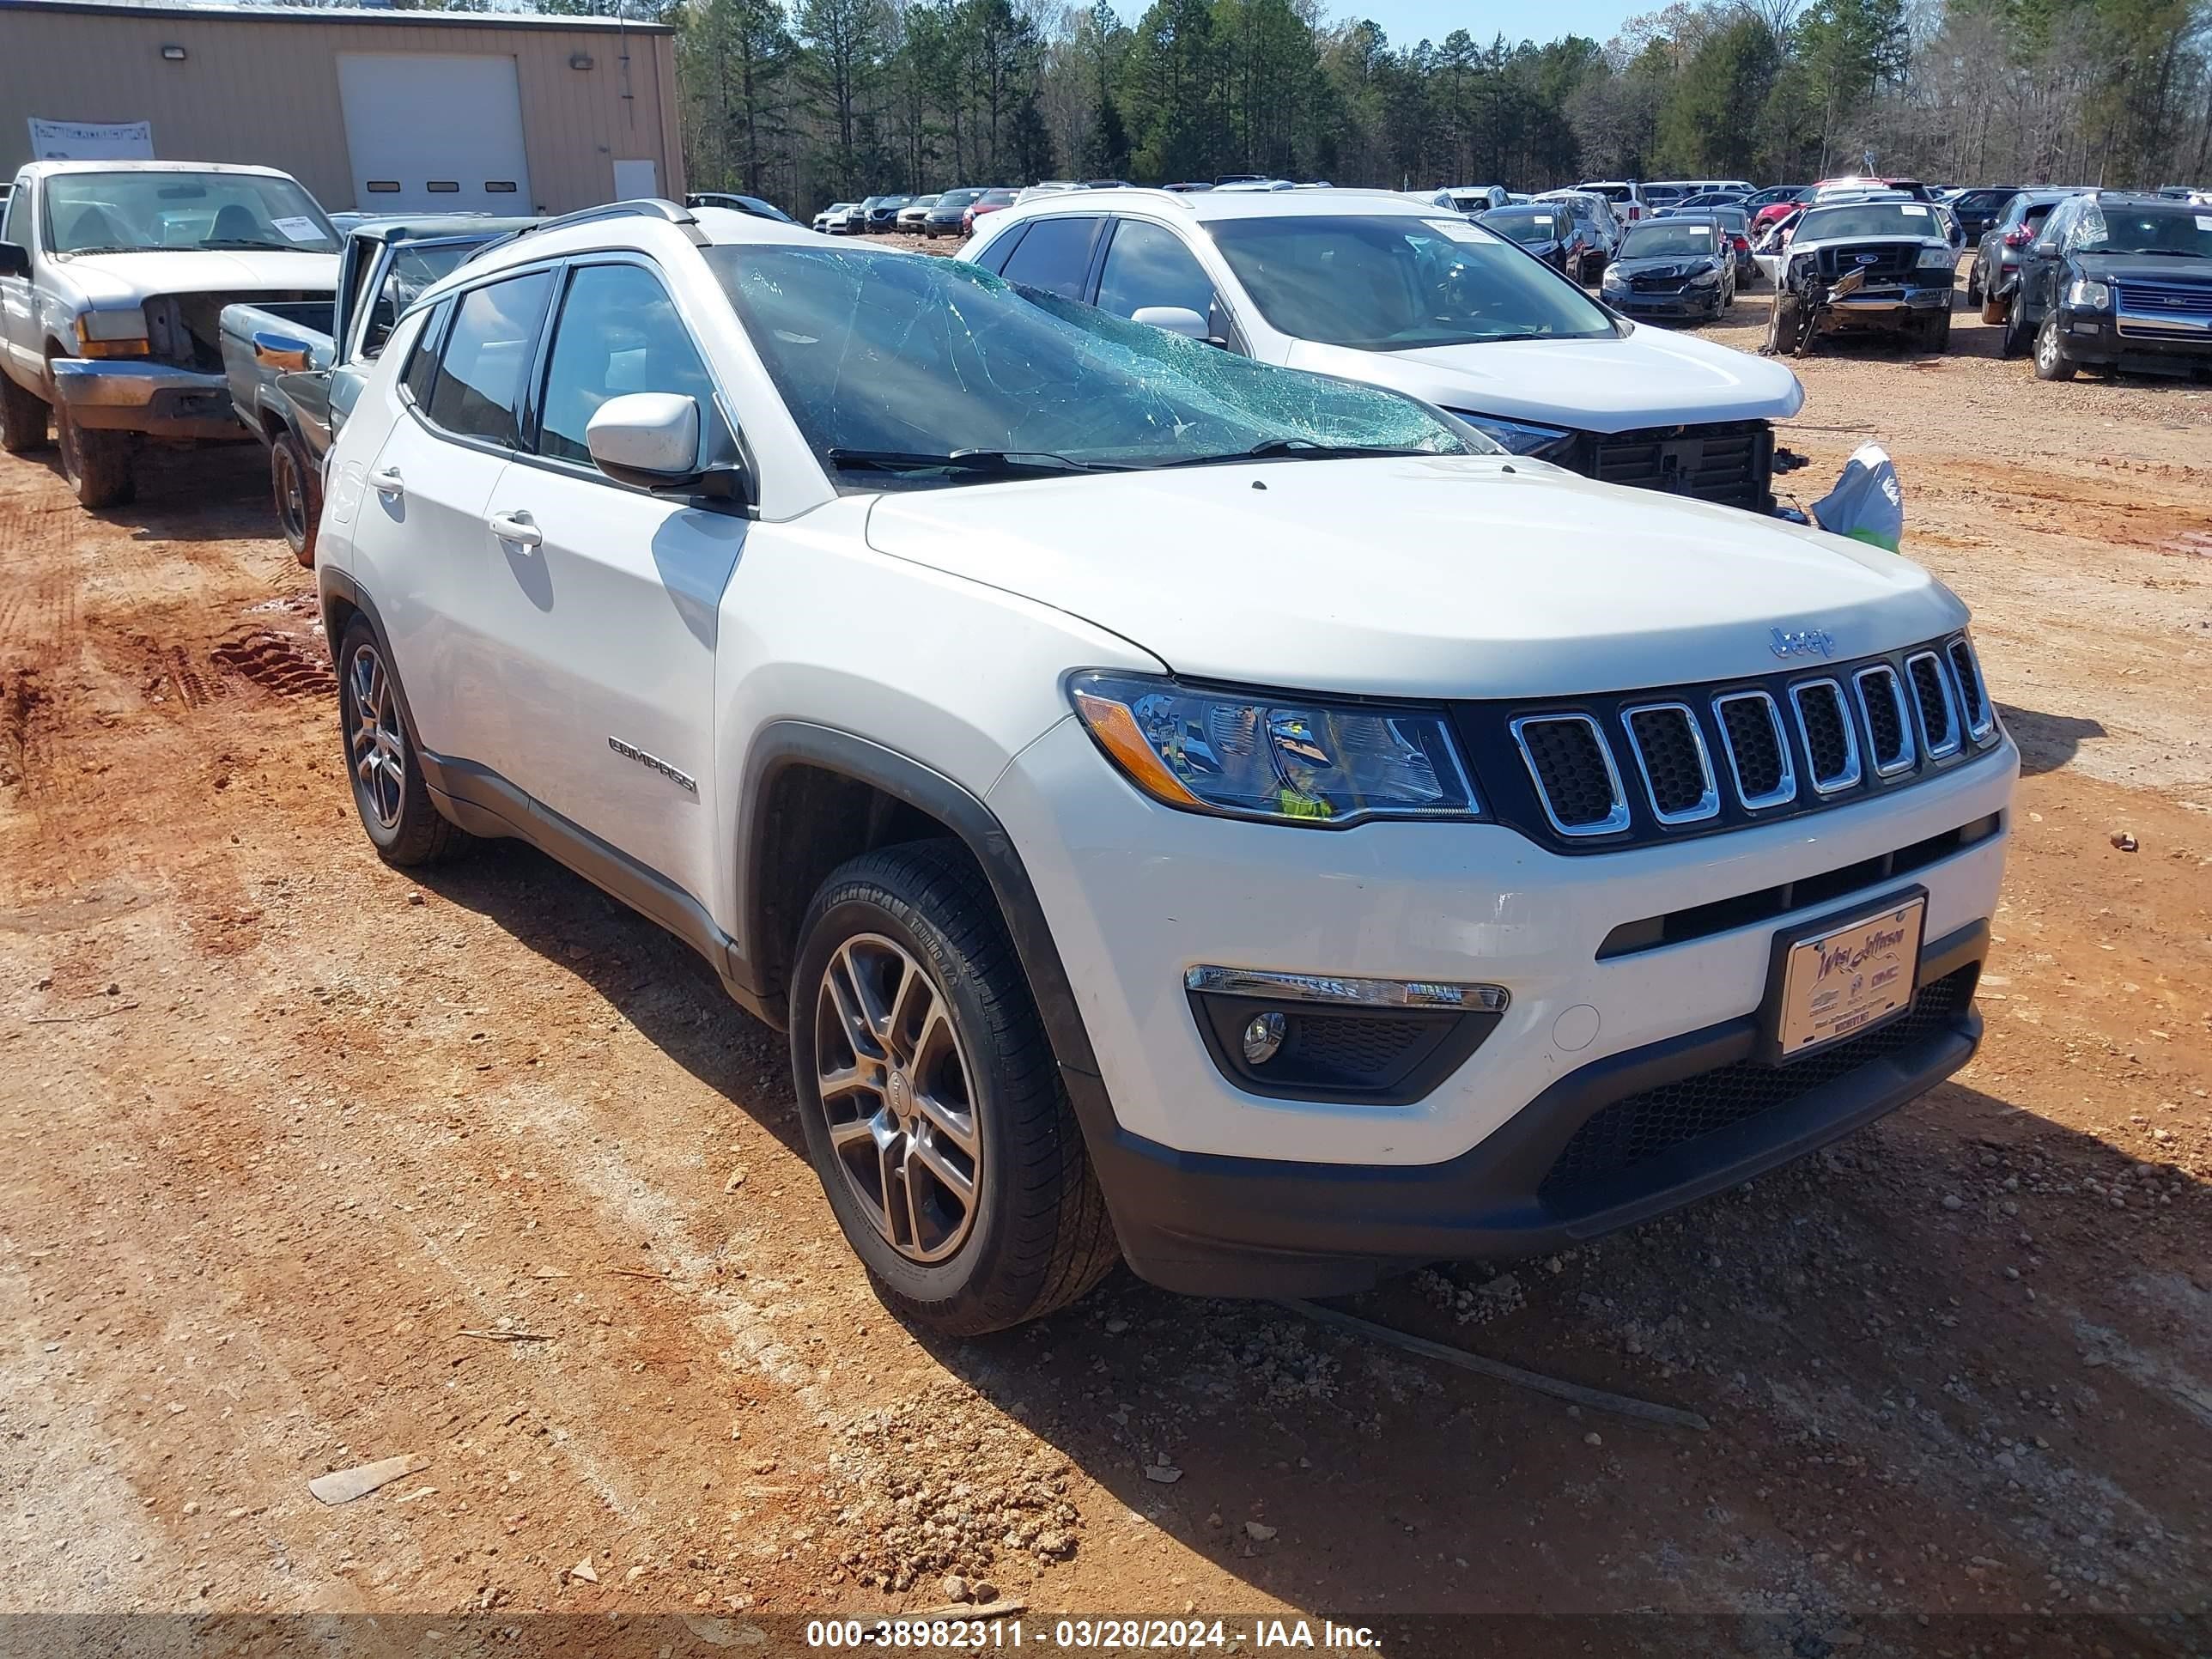
M 945 1261 L 975 1225 L 971 1079 L 929 971 L 880 933 L 845 940 L 816 991 L 814 1086 L 845 1183 L 907 1261 Z

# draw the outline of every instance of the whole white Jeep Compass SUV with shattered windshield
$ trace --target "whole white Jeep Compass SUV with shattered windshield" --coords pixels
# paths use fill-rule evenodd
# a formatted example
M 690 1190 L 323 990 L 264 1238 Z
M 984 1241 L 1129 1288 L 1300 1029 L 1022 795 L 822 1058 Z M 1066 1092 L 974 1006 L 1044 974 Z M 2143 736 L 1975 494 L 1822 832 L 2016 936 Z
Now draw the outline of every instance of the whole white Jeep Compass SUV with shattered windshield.
M 940 1332 L 1557 1248 L 1973 1053 L 2017 754 L 1871 546 L 975 265 L 597 210 L 330 462 L 354 801 L 522 836 L 787 1024 Z

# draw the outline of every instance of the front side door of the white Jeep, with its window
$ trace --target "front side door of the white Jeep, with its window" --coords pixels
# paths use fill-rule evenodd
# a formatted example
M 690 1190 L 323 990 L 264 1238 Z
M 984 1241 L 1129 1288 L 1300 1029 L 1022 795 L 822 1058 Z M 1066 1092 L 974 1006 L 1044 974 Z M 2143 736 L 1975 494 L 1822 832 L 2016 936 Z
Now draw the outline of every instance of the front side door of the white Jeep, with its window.
M 591 462 L 608 398 L 677 392 L 721 422 L 703 354 L 659 274 L 580 263 L 553 321 L 535 456 L 489 502 L 507 699 L 502 763 L 529 792 L 701 905 L 714 841 L 714 641 L 750 520 L 630 489 Z

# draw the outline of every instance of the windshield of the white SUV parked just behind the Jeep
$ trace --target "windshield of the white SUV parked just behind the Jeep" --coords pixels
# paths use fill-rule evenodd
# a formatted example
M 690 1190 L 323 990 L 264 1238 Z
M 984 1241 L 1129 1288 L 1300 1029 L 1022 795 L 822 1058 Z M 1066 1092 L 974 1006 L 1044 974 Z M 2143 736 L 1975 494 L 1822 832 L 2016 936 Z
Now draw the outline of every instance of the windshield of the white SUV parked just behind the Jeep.
M 1615 334 L 1564 276 L 1460 219 L 1332 212 L 1217 219 L 1252 303 L 1283 334 L 1365 352 Z

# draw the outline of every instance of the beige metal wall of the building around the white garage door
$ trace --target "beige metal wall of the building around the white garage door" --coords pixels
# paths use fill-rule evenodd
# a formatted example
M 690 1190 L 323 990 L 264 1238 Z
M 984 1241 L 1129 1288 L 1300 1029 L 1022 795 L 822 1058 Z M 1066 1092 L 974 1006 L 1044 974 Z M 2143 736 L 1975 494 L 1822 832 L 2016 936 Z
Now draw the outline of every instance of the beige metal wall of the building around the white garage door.
M 184 46 L 186 60 L 161 58 L 161 46 Z M 332 212 L 374 208 L 354 201 L 338 111 L 343 51 L 513 58 L 531 190 L 544 212 L 613 201 L 615 157 L 650 157 L 661 195 L 681 197 L 675 40 L 666 29 L 325 22 L 312 11 L 223 18 L 0 7 L 0 179 L 31 159 L 33 115 L 153 122 L 153 153 L 164 161 L 257 161 L 292 173 Z M 568 66 L 580 51 L 591 69 Z

